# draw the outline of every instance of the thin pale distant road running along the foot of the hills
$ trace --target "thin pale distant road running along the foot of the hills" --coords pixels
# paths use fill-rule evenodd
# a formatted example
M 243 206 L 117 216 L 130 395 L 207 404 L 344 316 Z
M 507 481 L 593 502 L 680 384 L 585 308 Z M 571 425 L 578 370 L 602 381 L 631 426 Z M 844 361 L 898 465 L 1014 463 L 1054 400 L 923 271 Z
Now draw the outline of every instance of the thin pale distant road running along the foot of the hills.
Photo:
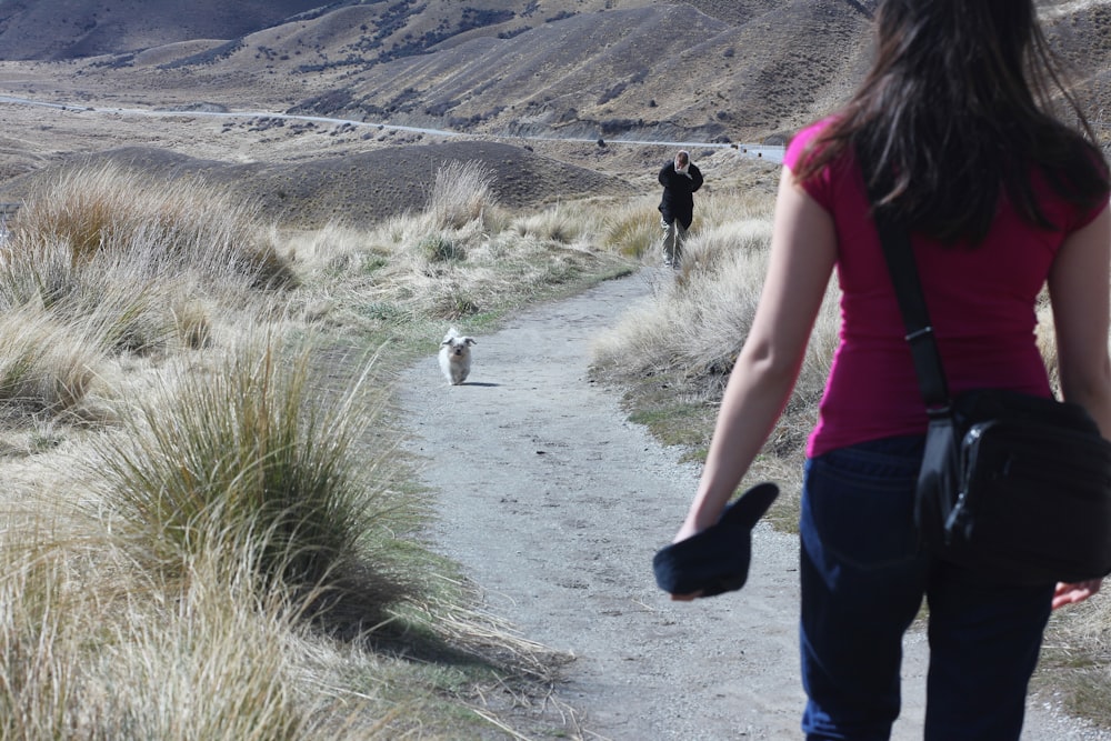
M 169 110 L 169 109 L 153 109 L 153 108 L 98 108 L 94 106 L 76 106 L 72 103 L 51 103 L 41 100 L 31 100 L 29 98 L 13 98 L 11 96 L 0 96 L 0 103 L 9 103 L 13 106 L 39 106 L 42 108 L 54 108 L 63 111 L 72 111 L 74 113 L 91 112 L 91 113 L 112 113 L 117 116 L 148 116 L 148 117 L 163 117 L 163 116 L 207 116 L 210 118 L 267 118 L 267 119 L 281 119 L 289 121 L 312 121 L 314 123 L 330 123 L 337 126 L 354 126 L 354 127 L 369 127 L 373 129 L 388 129 L 391 131 L 408 131 L 411 133 L 422 133 L 431 137 L 464 137 L 474 138 L 481 137 L 486 139 L 500 139 L 509 141 L 574 141 L 574 142 L 588 142 L 593 143 L 598 139 L 587 139 L 587 138 L 575 138 L 575 137 L 499 137 L 492 134 L 473 134 L 466 133 L 461 131 L 448 131 L 446 129 L 422 129 L 420 127 L 410 126 L 399 126 L 394 123 L 377 123 L 371 121 L 356 121 L 352 119 L 336 119 L 328 118 L 323 116 L 296 116 L 292 113 L 272 113 L 269 111 L 206 111 L 206 110 Z M 644 139 L 604 139 L 607 146 L 609 144 L 635 144 L 635 146 L 653 146 L 653 147 L 673 147 L 682 149 L 691 149 L 695 147 L 700 148 L 715 148 L 715 149 L 735 149 L 738 153 L 744 157 L 752 158 L 763 158 L 771 160 L 772 162 L 783 161 L 783 148 L 782 147 L 768 147 L 764 144 L 723 144 L 720 142 L 708 142 L 708 141 L 663 141 L 663 140 L 644 140 Z

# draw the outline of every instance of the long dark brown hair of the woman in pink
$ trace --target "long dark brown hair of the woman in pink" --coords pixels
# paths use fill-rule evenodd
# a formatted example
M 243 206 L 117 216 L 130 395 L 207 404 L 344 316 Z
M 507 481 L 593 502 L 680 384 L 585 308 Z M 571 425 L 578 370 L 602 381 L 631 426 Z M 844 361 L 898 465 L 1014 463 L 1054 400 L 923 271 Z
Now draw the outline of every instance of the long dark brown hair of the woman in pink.
M 943 242 L 980 242 L 1004 196 L 1051 228 L 1031 174 L 1094 206 L 1108 172 L 1032 0 L 881 0 L 875 60 L 795 178 L 855 150 L 875 207 Z M 1077 128 L 1053 113 L 1057 92 Z

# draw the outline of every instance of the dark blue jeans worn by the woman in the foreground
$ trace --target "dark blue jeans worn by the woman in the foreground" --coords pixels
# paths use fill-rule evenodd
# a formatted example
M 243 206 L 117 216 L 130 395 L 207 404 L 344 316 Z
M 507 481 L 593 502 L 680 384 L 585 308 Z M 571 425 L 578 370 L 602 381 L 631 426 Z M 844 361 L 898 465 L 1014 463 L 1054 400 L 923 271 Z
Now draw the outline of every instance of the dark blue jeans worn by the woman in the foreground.
M 902 638 L 929 605 L 927 741 L 1017 741 L 1053 584 L 1012 585 L 929 557 L 913 522 L 921 438 L 807 462 L 800 648 L 811 741 L 888 739 Z

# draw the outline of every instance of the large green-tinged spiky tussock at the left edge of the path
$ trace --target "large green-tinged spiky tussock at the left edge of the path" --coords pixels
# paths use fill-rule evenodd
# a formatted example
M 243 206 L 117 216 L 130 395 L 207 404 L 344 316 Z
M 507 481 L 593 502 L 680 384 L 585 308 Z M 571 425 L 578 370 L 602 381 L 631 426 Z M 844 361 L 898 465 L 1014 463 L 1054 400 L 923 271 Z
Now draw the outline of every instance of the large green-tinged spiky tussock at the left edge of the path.
M 358 595 L 377 620 L 404 589 L 362 558 L 373 501 L 357 474 L 367 462 L 349 450 L 371 421 L 366 389 L 312 388 L 309 359 L 284 366 L 277 348 L 252 344 L 216 372 L 186 375 L 137 404 L 93 468 L 137 533 L 137 562 L 180 579 L 192 559 L 246 549 L 260 589 L 324 588 L 329 603 Z

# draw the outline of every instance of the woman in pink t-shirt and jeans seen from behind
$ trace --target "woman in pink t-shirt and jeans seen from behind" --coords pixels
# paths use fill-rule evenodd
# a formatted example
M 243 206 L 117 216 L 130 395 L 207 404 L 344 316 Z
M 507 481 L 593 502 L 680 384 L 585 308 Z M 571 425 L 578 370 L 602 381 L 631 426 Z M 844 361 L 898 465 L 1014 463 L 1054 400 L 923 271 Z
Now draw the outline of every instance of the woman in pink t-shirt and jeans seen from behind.
M 841 341 L 800 517 L 803 731 L 889 738 L 924 599 L 925 738 L 1018 739 L 1050 610 L 1100 582 L 1001 584 L 919 549 L 927 419 L 867 188 L 911 232 L 950 390 L 1051 393 L 1034 338 L 1048 282 L 1062 395 L 1107 437 L 1108 171 L 1083 118 L 1088 138 L 1049 112 L 1060 84 L 1031 0 L 881 0 L 877 40 L 851 101 L 788 148 L 763 293 L 675 540 L 718 519 L 767 440 L 835 268 Z

